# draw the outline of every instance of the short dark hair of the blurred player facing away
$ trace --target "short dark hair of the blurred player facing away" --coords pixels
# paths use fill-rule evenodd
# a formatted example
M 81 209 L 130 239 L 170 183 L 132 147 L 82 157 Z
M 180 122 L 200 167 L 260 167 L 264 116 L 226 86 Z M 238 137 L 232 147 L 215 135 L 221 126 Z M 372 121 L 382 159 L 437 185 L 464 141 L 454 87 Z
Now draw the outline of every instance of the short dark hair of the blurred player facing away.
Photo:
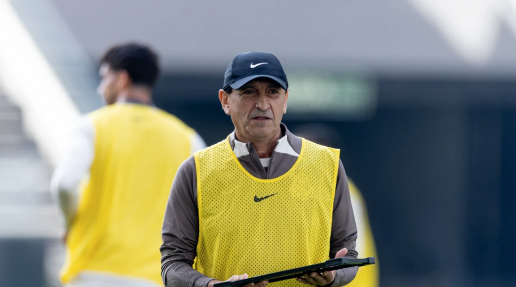
M 125 70 L 135 85 L 154 87 L 159 76 L 159 57 L 148 46 L 127 43 L 109 48 L 101 64 L 109 65 L 115 71 Z

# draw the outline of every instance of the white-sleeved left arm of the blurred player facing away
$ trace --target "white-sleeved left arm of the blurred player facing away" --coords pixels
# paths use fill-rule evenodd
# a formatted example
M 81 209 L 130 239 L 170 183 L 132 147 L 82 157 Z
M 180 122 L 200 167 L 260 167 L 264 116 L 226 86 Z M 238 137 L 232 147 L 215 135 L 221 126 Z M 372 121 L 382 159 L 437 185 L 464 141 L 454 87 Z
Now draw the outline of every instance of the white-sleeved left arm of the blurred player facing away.
M 78 186 L 90 170 L 94 156 L 94 129 L 88 117 L 80 120 L 71 134 L 68 147 L 57 165 L 51 181 L 51 192 L 59 203 L 69 230 L 77 212 Z

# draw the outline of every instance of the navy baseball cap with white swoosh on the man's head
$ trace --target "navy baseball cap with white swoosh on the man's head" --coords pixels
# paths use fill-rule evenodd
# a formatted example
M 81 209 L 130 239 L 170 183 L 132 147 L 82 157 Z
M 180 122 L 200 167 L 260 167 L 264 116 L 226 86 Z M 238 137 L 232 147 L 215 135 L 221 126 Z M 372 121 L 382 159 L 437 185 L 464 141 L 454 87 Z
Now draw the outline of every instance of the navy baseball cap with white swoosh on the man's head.
M 224 74 L 222 89 L 225 90 L 228 87 L 239 89 L 259 77 L 271 78 L 285 90 L 288 88 L 287 76 L 280 60 L 271 53 L 251 51 L 238 54 L 231 60 Z

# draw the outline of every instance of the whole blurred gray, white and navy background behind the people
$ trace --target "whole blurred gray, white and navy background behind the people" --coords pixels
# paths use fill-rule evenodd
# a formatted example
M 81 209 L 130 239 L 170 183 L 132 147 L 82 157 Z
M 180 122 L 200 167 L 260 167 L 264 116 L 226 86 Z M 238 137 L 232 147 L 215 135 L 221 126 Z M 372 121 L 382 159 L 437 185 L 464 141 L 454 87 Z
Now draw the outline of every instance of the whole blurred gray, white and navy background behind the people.
M 283 122 L 341 138 L 382 287 L 516 286 L 516 0 L 0 0 L 0 286 L 59 286 L 52 168 L 126 41 L 160 54 L 156 106 L 208 145 L 233 131 L 231 59 L 278 56 Z

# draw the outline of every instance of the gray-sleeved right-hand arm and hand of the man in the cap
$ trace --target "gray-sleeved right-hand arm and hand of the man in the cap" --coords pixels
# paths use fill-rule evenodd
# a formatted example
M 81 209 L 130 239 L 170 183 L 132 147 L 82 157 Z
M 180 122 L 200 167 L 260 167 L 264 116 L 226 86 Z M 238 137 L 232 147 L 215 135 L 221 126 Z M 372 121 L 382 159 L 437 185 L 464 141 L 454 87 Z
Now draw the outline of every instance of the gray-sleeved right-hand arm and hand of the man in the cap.
M 333 203 L 333 220 L 330 236 L 330 258 L 350 257 L 357 258 L 356 250 L 357 224 L 351 206 L 348 180 L 342 161 L 338 163 L 335 199 Z M 327 271 L 325 273 L 311 273 L 299 278 L 298 281 L 319 286 L 344 286 L 350 283 L 357 275 L 358 267 Z

